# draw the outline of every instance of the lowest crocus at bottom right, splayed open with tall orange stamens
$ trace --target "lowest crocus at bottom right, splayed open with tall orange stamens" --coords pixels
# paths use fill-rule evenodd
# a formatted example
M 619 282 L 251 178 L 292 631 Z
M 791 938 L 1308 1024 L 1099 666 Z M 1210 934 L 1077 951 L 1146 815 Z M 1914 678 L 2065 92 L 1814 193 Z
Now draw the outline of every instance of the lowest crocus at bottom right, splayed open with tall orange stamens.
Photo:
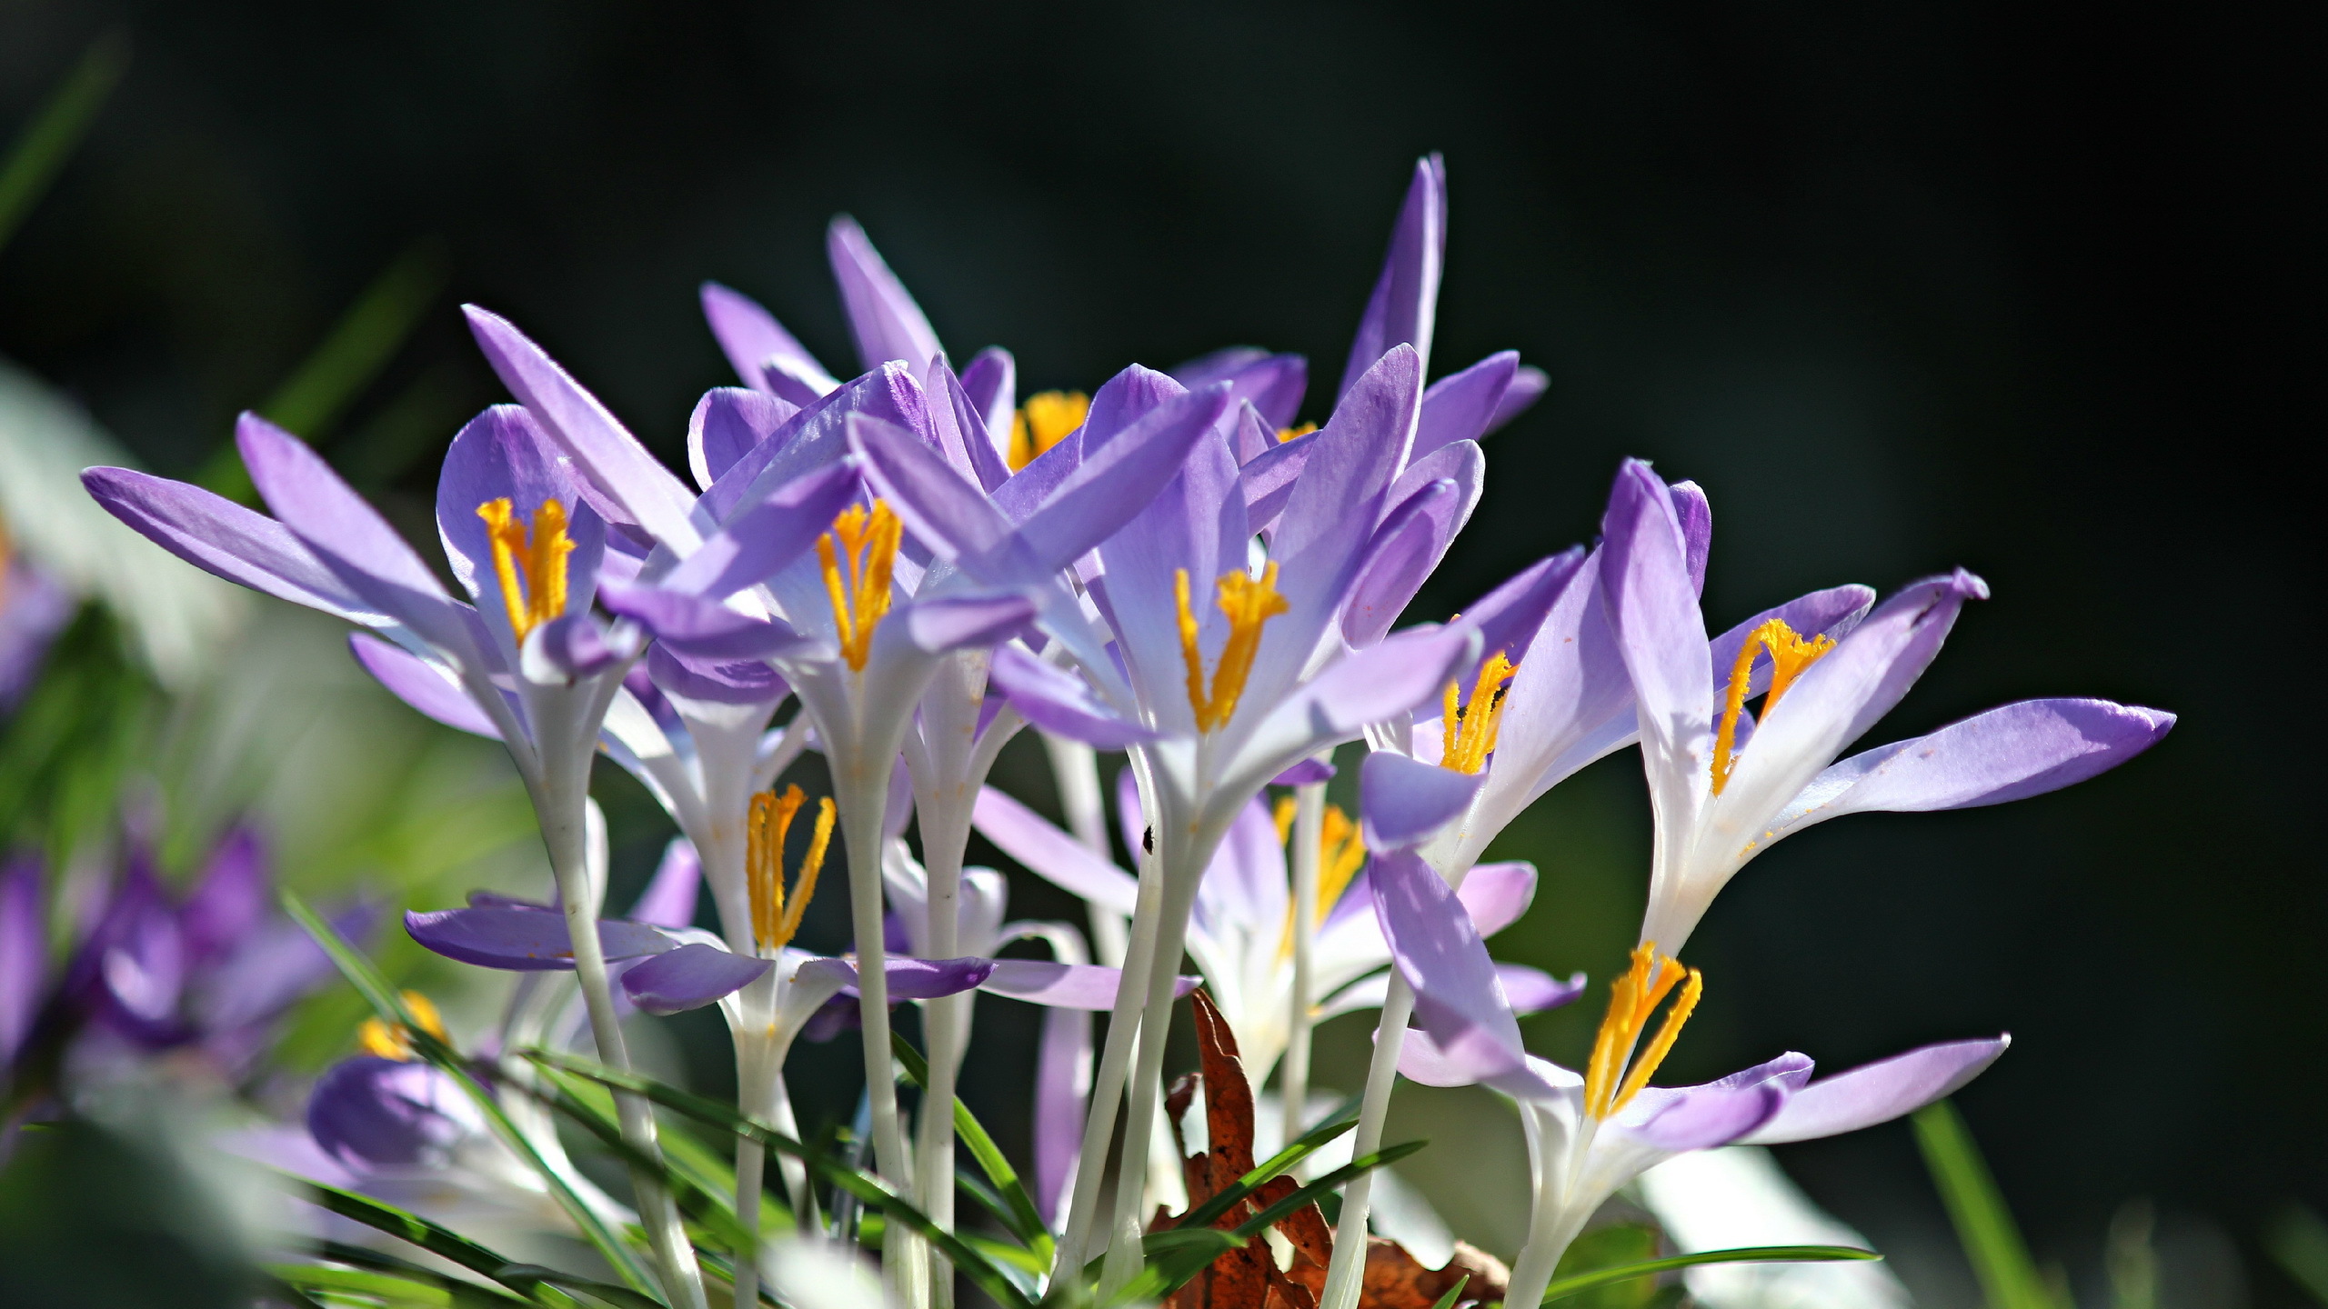
M 1541 1300 L 1585 1220 L 1658 1162 L 1732 1141 L 1809 1141 L 1888 1123 L 1951 1095 L 2009 1043 L 2007 1036 L 1944 1041 L 1820 1081 L 1811 1081 L 1807 1055 L 1786 1053 L 1704 1085 L 1648 1085 L 1704 981 L 1641 946 L 1613 985 L 1592 1060 L 1578 1076 L 1520 1046 L 1485 943 L 1420 857 L 1378 859 L 1374 904 L 1422 1025 L 1406 1034 L 1399 1071 L 1427 1085 L 1492 1085 L 1520 1104 L 1534 1209 L 1511 1276 L 1513 1304 Z M 1667 997 L 1672 1006 L 1651 1034 Z

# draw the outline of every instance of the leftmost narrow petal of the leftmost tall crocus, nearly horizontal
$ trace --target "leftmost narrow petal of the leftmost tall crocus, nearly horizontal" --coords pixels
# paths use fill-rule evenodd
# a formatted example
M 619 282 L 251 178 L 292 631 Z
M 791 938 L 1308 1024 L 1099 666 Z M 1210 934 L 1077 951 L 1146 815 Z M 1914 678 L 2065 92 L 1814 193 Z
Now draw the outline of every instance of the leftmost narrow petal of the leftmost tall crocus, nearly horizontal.
M 349 589 L 291 529 L 226 496 L 133 468 L 88 468 L 81 487 L 109 515 L 205 573 L 347 622 L 393 622 L 386 610 Z

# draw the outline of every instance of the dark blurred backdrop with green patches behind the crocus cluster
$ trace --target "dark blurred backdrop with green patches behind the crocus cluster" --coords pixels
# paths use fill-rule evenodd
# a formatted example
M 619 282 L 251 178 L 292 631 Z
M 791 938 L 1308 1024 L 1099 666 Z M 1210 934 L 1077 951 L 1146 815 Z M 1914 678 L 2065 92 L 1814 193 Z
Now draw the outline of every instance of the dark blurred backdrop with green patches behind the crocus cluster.
M 1590 538 L 1639 454 L 1713 498 L 1716 627 L 1846 580 L 1988 578 L 1876 738 L 2042 694 L 2181 715 L 2072 792 L 1853 818 L 1758 859 L 1692 943 L 1709 990 L 1672 1076 L 2011 1029 L 1960 1106 L 2039 1260 L 2084 1297 L 2111 1216 L 2149 1200 L 2170 1304 L 2298 1304 L 2267 1246 L 2291 1204 L 2328 1209 L 2323 773 L 2293 694 L 2321 675 L 2319 37 L 2298 7 L 1921 0 L 5 0 L 0 137 L 61 86 L 88 114 L 37 205 L 0 196 L 0 417 L 51 405 L 151 470 L 230 482 L 233 415 L 261 408 L 433 557 L 435 459 L 503 398 L 459 303 L 680 461 L 694 398 L 731 382 L 696 284 L 847 361 L 822 231 L 852 212 L 957 356 L 1017 354 L 1022 394 L 1250 342 L 1311 356 L 1322 419 L 1413 158 L 1443 151 L 1434 370 L 1518 347 L 1550 391 L 1492 438 L 1485 503 L 1411 617 Z M 35 482 L 9 475 L 23 536 Z M 121 617 L 154 606 L 74 620 L 23 692 L 7 841 L 70 862 L 114 825 L 88 797 L 126 785 L 170 869 L 254 811 L 317 897 L 535 876 L 498 748 L 386 701 L 333 624 L 217 599 L 172 648 Z M 133 745 L 77 750 L 114 741 L 105 713 L 142 724 Z M 1006 773 L 1048 797 L 1036 750 Z M 612 771 L 601 801 L 622 901 L 670 829 Z M 1543 871 L 1497 953 L 1609 976 L 1648 857 L 1637 759 L 1497 852 Z M 1069 913 L 1031 878 L 1015 897 Z M 822 946 L 840 908 L 819 901 Z M 1022 1141 L 1013 1009 L 982 1006 L 968 1095 Z M 345 1053 L 356 1016 L 314 1002 L 298 1057 Z M 1576 1060 L 1595 1016 L 1529 1039 Z M 673 1027 L 668 1060 L 724 1090 L 717 1020 Z M 1355 1088 L 1367 1029 L 1327 1032 L 1322 1081 Z M 803 1048 L 803 1116 L 847 1111 L 852 1062 Z M 1453 1148 L 1411 1174 L 1457 1230 L 1516 1237 L 1509 1113 L 1401 1095 L 1434 1137 L 1502 1144 L 1511 1176 Z M 1925 1304 L 1974 1300 L 1904 1125 L 1781 1162 Z

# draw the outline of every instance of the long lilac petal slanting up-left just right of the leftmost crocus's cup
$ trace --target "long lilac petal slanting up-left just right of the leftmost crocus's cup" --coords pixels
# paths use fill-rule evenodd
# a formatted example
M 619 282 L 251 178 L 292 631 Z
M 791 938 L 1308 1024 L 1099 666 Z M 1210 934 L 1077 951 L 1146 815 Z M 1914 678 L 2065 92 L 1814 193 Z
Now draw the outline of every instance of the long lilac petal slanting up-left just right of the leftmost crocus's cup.
M 673 550 L 691 550 L 701 540 L 687 517 L 696 496 L 596 396 L 508 319 L 475 305 L 461 312 L 501 384 L 573 454 L 591 508 L 608 522 L 638 524 Z

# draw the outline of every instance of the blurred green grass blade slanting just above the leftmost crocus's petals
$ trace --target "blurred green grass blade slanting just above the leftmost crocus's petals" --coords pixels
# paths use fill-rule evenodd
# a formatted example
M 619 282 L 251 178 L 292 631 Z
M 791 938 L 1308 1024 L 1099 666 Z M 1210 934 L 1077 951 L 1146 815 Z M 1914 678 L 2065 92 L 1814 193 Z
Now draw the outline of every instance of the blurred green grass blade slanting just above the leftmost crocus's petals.
M 414 242 L 372 277 L 307 359 L 258 405 L 258 415 L 310 443 L 321 438 L 396 359 L 421 314 L 445 291 L 445 275 L 442 242 Z M 230 501 L 249 503 L 254 496 L 251 475 L 233 440 L 203 464 L 196 484 Z

